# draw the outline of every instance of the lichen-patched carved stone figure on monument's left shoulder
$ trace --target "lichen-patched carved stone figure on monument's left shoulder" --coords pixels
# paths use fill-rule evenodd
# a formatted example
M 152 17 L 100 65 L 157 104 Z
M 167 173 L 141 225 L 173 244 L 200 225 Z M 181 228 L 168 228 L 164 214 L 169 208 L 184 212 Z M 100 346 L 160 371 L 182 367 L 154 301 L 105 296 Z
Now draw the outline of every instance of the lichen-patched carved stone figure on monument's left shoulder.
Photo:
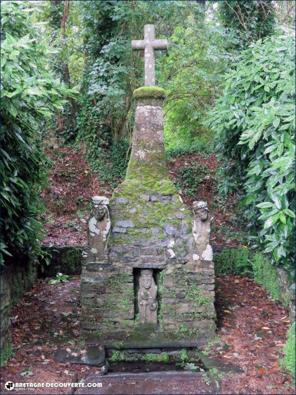
M 109 199 L 105 196 L 95 196 L 92 201 L 93 207 L 87 228 L 88 245 L 82 252 L 84 263 L 101 262 L 106 259 L 107 240 L 111 228 L 108 210 Z

